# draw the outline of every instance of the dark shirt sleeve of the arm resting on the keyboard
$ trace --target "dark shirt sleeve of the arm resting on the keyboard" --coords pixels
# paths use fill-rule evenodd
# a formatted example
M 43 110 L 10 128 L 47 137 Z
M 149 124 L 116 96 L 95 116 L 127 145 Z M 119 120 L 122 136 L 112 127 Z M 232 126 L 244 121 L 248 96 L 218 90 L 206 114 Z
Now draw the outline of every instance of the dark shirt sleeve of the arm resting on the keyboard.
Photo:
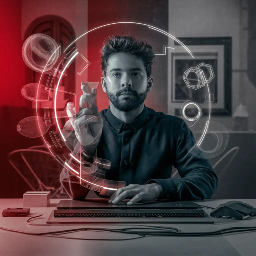
M 176 156 L 173 166 L 181 178 L 154 179 L 162 186 L 162 197 L 173 200 L 201 200 L 210 198 L 218 186 L 218 178 L 208 159 L 196 146 L 194 135 L 181 120 L 173 140 Z

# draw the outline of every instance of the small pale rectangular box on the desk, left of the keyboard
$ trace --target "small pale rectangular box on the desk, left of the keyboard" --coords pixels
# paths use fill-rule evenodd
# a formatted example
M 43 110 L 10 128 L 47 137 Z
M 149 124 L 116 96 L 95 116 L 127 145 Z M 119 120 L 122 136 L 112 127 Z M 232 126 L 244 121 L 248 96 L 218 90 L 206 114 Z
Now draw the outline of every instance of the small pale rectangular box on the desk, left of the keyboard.
M 23 207 L 47 207 L 50 201 L 50 191 L 27 191 L 23 194 Z

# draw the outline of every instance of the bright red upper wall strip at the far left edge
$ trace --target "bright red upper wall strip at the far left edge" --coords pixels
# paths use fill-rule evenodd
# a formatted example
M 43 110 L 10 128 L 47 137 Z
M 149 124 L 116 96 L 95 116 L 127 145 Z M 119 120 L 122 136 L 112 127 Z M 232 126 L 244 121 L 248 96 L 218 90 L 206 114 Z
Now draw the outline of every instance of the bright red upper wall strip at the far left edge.
M 21 39 L 22 1 L 1 1 L 0 106 L 26 106 L 20 90 L 24 86 Z M 11 94 L 10 94 L 11 90 Z

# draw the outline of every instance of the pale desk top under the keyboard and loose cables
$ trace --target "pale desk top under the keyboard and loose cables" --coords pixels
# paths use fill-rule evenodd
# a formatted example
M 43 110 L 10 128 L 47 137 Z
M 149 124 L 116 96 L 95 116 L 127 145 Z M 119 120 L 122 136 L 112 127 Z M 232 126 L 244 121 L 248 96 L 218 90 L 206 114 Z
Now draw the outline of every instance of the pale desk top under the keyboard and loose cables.
M 2 217 L 0 226 L 4 228 L 22 230 L 25 232 L 49 232 L 81 228 L 85 225 L 54 225 L 54 226 L 30 226 L 26 223 L 29 217 L 43 214 L 32 223 L 46 224 L 50 212 L 56 207 L 60 199 L 52 199 L 49 207 L 30 207 L 30 215 L 27 217 Z M 240 200 L 240 199 L 237 199 Z M 219 204 L 230 201 L 230 199 L 208 199 L 196 201 L 206 206 L 217 207 Z M 242 199 L 242 202 L 256 206 L 256 199 Z M 22 207 L 22 199 L 0 199 L 0 210 L 8 207 Z M 207 213 L 211 210 L 204 209 Z M 256 226 L 256 217 L 245 220 L 232 220 L 224 218 L 213 218 L 214 224 L 152 224 L 156 226 L 170 226 L 178 228 L 182 232 L 207 232 L 219 230 L 232 226 Z M 87 225 L 88 226 L 88 225 Z M 100 225 L 102 228 L 135 227 L 131 224 L 108 224 Z M 90 225 L 99 227 L 99 225 Z M 117 234 L 106 232 L 82 231 L 70 233 L 67 236 L 80 238 L 102 238 L 120 239 L 136 237 L 131 234 Z M 248 256 L 255 255 L 256 232 L 242 234 L 227 234 L 224 236 L 209 237 L 164 237 L 148 236 L 126 241 L 90 241 L 71 240 L 65 238 L 53 238 L 46 236 L 31 236 L 0 230 L 0 254 L 1 256 L 151 256 L 151 255 L 189 255 L 189 256 Z

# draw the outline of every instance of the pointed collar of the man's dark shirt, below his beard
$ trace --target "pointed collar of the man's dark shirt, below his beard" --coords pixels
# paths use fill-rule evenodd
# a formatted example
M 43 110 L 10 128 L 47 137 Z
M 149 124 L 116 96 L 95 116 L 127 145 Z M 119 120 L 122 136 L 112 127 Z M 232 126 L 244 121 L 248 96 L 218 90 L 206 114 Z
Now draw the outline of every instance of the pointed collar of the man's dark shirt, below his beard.
M 139 130 L 139 128 L 142 126 L 142 124 L 146 120 L 147 116 L 148 116 L 148 109 L 144 105 L 142 112 L 132 122 L 129 123 L 134 132 L 137 132 Z M 108 107 L 108 110 L 106 112 L 106 118 L 118 133 L 122 132 L 123 126 L 125 123 L 119 120 L 118 118 L 116 118 L 112 114 L 110 107 Z

